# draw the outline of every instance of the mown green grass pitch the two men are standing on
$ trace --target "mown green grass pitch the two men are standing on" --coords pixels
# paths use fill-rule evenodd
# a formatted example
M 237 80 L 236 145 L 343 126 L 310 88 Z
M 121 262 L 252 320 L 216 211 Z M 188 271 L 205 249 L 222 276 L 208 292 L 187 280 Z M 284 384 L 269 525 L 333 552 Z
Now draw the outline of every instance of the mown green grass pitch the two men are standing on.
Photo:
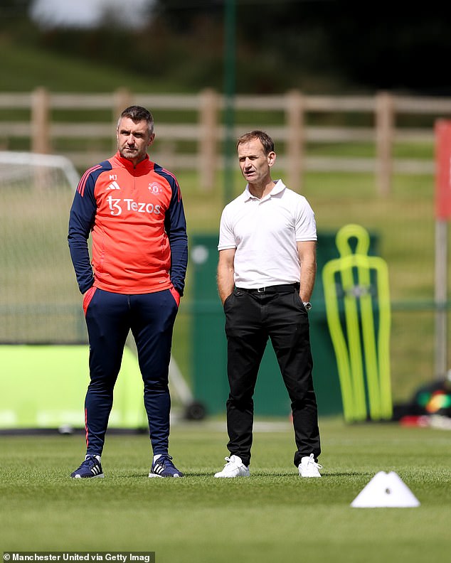
M 147 436 L 107 436 L 105 478 L 71 480 L 83 436 L 0 436 L 3 551 L 153 551 L 157 563 L 446 561 L 448 431 L 322 419 L 321 479 L 292 465 L 287 421 L 255 427 L 251 477 L 214 479 L 223 421 L 174 424 L 183 479 L 149 479 Z M 396 471 L 418 508 L 351 508 L 378 471 Z

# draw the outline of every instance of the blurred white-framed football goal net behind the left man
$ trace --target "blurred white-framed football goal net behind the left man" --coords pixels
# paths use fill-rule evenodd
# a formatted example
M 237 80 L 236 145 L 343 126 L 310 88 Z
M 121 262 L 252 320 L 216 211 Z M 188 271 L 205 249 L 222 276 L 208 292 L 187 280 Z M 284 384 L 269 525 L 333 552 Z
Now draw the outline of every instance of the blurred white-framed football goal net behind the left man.
M 0 343 L 86 341 L 67 241 L 79 179 L 63 156 L 0 151 Z

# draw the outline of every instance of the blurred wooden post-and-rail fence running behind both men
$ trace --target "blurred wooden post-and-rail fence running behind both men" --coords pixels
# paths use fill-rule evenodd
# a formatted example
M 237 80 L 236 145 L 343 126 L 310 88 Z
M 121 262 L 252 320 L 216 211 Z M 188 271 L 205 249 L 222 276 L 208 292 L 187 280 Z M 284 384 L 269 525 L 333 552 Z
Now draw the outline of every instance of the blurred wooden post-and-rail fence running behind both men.
M 12 150 L 22 142 L 28 145 L 23 150 L 62 154 L 78 168 L 87 168 L 110 156 L 105 151 L 115 150 L 117 116 L 129 104 L 149 107 L 156 117 L 157 142 L 152 158 L 174 170 L 198 170 L 201 187 L 211 189 L 216 172 L 224 166 L 222 144 L 226 138 L 226 100 L 213 90 L 196 95 L 144 95 L 127 90 L 73 94 L 43 88 L 28 93 L 0 93 L 0 149 Z M 381 195 L 390 192 L 395 172 L 433 173 L 433 160 L 394 158 L 393 147 L 401 142 L 433 146 L 434 119 L 451 116 L 451 99 L 387 92 L 374 96 L 307 96 L 298 91 L 238 95 L 234 107 L 235 113 L 245 115 L 248 123 L 237 120 L 233 134 L 238 136 L 255 128 L 267 130 L 277 143 L 278 163 L 293 189 L 301 191 L 307 171 L 370 172 Z M 83 119 L 78 117 L 80 114 Z M 178 119 L 179 114 L 183 117 Z M 344 117 L 348 114 L 365 117 L 348 119 L 348 124 Z M 409 116 L 411 122 L 413 117 L 421 127 L 402 126 L 404 116 Z M 307 150 L 307 145 L 346 142 L 372 144 L 374 156 L 312 156 Z M 74 149 L 77 143 L 80 148 Z

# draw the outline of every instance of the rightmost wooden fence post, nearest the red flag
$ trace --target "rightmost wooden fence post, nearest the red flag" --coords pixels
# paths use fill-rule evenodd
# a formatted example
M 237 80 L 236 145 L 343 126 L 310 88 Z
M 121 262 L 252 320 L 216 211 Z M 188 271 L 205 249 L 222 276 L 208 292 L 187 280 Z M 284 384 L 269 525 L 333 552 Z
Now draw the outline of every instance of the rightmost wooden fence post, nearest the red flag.
M 391 192 L 393 97 L 388 92 L 376 95 L 376 183 L 379 195 Z

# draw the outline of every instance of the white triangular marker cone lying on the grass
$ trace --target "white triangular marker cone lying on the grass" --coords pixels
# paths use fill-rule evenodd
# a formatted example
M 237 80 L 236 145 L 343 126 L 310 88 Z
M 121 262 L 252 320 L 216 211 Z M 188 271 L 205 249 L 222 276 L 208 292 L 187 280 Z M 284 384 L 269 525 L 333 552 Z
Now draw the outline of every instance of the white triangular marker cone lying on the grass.
M 354 508 L 409 508 L 420 506 L 420 501 L 397 473 L 379 471 L 354 498 L 351 506 Z

